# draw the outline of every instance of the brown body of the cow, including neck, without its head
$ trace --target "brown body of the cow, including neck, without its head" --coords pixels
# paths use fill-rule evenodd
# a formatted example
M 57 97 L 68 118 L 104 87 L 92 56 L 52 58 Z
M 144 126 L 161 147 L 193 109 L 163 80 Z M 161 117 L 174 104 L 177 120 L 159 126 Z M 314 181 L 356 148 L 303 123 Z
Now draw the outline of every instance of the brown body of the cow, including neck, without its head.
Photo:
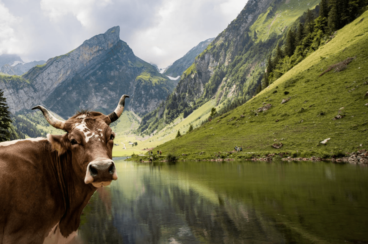
M 96 188 L 46 138 L 14 142 L 0 143 L 0 243 L 67 243 Z

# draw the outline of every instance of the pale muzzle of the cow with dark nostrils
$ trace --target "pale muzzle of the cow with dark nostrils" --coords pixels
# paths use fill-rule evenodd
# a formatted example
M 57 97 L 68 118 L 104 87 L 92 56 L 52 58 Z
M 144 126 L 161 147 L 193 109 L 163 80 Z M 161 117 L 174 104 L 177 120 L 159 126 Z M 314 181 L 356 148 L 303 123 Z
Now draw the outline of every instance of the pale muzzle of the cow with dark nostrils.
M 108 186 L 112 180 L 117 180 L 114 161 L 110 159 L 92 161 L 87 166 L 84 183 L 92 183 L 95 187 Z

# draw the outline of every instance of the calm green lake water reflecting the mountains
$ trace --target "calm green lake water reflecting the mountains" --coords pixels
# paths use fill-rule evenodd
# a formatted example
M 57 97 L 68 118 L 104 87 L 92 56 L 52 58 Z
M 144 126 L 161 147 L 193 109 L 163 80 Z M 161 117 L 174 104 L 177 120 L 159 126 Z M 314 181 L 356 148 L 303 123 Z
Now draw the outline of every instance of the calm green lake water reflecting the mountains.
M 79 243 L 368 243 L 367 165 L 115 162 Z

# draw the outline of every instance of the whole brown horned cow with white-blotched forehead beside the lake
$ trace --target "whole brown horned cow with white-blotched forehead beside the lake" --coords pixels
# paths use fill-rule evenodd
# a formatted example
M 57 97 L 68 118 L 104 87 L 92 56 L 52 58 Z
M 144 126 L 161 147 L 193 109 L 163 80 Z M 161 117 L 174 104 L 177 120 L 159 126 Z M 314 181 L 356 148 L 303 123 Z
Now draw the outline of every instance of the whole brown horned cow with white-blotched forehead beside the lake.
M 110 123 L 124 110 L 123 95 L 109 115 L 82 111 L 61 121 L 66 134 L 0 143 L 0 244 L 69 243 L 82 210 L 99 187 L 117 180 Z

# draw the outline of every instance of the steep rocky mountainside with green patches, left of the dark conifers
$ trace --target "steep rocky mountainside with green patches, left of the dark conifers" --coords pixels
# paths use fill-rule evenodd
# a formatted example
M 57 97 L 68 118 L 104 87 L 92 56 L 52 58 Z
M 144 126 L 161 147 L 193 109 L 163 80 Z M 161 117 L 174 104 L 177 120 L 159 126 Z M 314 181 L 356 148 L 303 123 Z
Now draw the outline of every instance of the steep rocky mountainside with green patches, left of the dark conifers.
M 266 62 L 279 40 L 319 0 L 249 0 L 184 71 L 178 86 L 158 109 L 142 118 L 138 133 L 150 134 L 180 115 L 215 99 L 216 106 L 243 104 L 261 86 Z

